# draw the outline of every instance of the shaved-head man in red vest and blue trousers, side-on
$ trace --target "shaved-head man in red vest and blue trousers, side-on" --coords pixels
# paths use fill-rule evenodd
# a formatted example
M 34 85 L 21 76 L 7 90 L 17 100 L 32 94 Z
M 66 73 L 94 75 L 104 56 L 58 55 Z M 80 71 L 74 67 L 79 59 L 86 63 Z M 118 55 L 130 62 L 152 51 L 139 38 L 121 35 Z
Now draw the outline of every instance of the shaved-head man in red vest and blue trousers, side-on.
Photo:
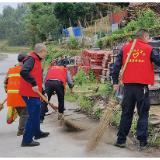
M 42 67 L 41 61 L 47 55 L 47 48 L 43 43 L 38 43 L 28 57 L 23 60 L 20 70 L 19 94 L 26 103 L 28 119 L 25 126 L 25 133 L 21 143 L 22 147 L 33 147 L 40 145 L 34 139 L 47 137 L 49 132 L 42 132 L 40 129 L 40 106 L 41 99 L 39 90 L 47 99 L 48 96 L 42 88 Z

